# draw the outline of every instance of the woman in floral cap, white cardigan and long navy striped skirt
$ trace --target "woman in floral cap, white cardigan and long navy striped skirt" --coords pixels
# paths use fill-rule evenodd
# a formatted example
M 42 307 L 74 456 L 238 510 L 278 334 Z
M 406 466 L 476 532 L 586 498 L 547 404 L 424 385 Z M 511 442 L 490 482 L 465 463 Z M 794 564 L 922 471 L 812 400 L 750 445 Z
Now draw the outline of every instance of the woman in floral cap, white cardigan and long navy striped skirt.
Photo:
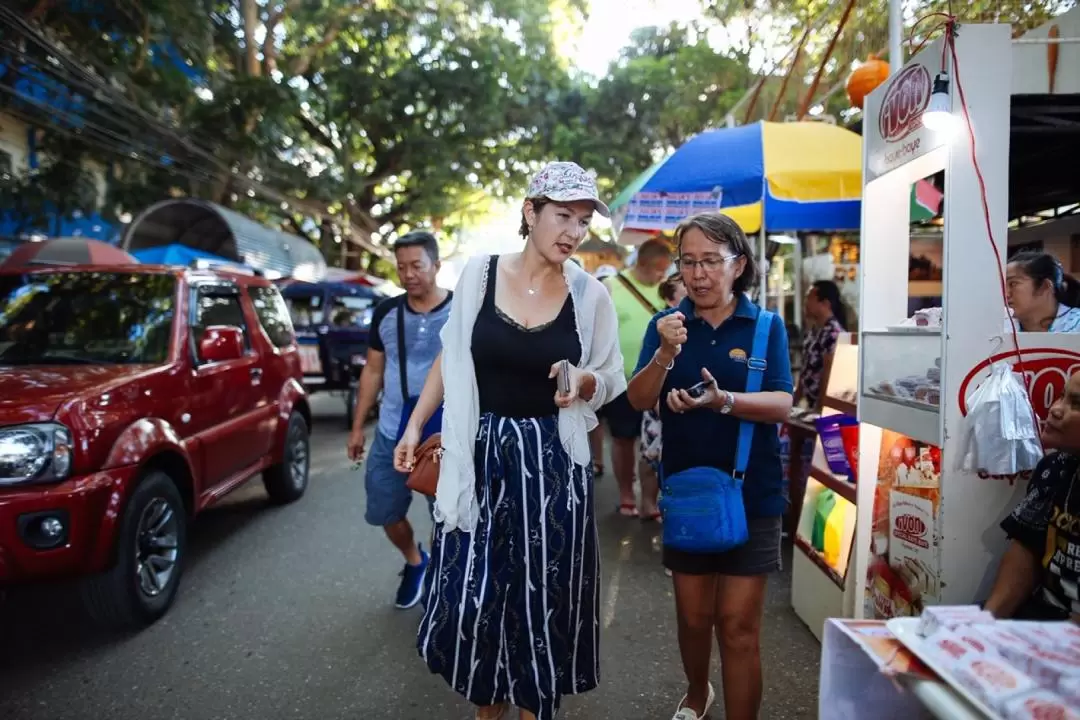
M 592 175 L 551 163 L 522 207 L 521 253 L 472 258 L 395 464 L 440 403 L 443 459 L 418 648 L 476 717 L 551 720 L 599 681 L 599 556 L 589 431 L 626 389 L 607 289 L 568 262 Z M 559 392 L 562 364 L 568 392 Z

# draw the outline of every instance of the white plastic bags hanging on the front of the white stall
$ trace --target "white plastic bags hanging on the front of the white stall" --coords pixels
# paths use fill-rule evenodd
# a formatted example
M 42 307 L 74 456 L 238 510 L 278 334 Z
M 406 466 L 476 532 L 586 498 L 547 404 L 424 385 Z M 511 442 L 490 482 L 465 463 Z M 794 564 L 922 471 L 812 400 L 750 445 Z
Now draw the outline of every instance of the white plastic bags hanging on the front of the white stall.
M 1031 400 L 1008 363 L 995 363 L 990 377 L 971 394 L 967 423 L 962 470 L 1014 475 L 1034 470 L 1042 459 Z

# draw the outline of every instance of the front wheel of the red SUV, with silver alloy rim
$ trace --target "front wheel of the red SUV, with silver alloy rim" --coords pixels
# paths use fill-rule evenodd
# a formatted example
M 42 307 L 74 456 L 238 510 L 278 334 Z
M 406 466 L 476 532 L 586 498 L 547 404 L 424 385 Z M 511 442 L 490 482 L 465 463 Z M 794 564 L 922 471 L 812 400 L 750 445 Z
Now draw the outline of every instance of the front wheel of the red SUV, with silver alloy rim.
M 176 484 L 161 471 L 147 473 L 124 510 L 116 563 L 83 581 L 90 615 L 118 628 L 150 625 L 164 615 L 180 584 L 187 532 Z

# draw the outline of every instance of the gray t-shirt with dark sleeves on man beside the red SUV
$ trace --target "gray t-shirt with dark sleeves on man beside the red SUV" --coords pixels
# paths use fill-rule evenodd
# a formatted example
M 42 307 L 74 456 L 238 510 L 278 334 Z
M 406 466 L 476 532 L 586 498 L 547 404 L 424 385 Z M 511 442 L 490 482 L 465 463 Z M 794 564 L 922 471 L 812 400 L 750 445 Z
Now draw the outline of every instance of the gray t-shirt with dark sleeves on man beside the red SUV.
M 402 393 L 401 351 L 397 348 L 397 316 L 405 317 L 405 363 L 408 393 L 417 397 L 423 390 L 428 371 L 443 349 L 438 337 L 450 316 L 453 293 L 447 293 L 433 310 L 419 313 L 409 308 L 405 295 L 383 300 L 372 315 L 372 335 L 368 345 L 387 356 L 387 368 L 382 375 L 382 404 L 379 407 L 379 432 L 387 437 L 396 437 L 401 426 L 405 397 Z

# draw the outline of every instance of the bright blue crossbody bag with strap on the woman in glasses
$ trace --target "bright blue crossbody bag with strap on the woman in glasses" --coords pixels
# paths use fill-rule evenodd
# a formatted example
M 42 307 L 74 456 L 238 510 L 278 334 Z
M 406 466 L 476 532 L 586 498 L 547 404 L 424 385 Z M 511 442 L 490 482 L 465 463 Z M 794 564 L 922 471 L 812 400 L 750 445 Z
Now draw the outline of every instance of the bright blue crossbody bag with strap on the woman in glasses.
M 761 390 L 772 313 L 758 313 L 754 343 L 746 361 L 746 390 Z M 750 539 L 742 486 L 754 443 L 754 426 L 739 423 L 735 464 L 731 473 L 717 467 L 690 467 L 665 477 L 660 510 L 664 518 L 664 546 L 685 553 L 725 553 Z

